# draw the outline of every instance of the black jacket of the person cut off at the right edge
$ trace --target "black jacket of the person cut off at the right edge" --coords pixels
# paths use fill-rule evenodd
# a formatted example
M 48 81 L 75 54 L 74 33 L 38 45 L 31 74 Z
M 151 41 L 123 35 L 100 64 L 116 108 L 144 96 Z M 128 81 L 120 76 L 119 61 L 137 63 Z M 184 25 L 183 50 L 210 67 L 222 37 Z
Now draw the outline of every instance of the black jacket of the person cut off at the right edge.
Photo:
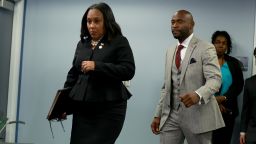
M 256 141 L 256 75 L 245 80 L 241 132 L 246 132 L 247 140 Z

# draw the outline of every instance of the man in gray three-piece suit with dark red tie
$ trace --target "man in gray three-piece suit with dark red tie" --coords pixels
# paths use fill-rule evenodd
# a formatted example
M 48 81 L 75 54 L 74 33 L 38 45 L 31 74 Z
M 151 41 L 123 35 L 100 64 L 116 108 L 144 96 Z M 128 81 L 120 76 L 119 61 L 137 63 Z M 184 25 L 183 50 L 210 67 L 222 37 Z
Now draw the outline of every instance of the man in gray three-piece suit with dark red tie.
M 189 144 L 211 144 L 212 130 L 225 125 L 214 97 L 221 85 L 216 51 L 194 36 L 193 27 L 190 12 L 173 15 L 178 45 L 167 50 L 164 86 L 151 123 L 161 144 L 182 144 L 185 138 Z

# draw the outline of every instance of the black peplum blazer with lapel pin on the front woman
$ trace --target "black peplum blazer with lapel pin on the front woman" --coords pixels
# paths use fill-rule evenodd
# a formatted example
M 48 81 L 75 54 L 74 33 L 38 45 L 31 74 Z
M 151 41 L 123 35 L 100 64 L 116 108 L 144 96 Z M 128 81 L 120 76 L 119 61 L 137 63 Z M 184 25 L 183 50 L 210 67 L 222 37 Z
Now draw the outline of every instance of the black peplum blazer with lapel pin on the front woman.
M 95 62 L 95 70 L 81 72 L 84 60 Z M 122 81 L 135 74 L 134 57 L 128 40 L 117 36 L 112 40 L 103 37 L 94 50 L 87 38 L 77 44 L 73 66 L 64 87 L 72 87 L 70 97 L 78 101 L 127 100 L 131 94 Z

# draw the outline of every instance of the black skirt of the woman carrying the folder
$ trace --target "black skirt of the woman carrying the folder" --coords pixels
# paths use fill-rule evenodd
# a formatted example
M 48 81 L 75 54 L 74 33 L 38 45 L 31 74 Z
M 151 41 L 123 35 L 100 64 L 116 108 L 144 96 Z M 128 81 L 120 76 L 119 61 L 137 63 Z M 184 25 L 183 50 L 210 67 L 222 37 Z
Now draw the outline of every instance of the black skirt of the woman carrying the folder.
M 70 144 L 114 144 L 126 115 L 126 101 L 76 102 Z

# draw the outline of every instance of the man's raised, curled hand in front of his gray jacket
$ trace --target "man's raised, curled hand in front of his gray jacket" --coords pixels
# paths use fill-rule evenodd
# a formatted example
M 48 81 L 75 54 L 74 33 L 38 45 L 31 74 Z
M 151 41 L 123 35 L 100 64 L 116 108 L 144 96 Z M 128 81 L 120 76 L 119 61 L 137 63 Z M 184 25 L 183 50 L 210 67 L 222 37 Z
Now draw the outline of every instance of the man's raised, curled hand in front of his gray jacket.
M 196 92 L 190 92 L 190 93 L 181 95 L 180 99 L 181 99 L 181 102 L 183 102 L 186 107 L 190 107 L 192 105 L 197 104 L 200 100 L 200 97 L 199 95 L 197 95 Z

